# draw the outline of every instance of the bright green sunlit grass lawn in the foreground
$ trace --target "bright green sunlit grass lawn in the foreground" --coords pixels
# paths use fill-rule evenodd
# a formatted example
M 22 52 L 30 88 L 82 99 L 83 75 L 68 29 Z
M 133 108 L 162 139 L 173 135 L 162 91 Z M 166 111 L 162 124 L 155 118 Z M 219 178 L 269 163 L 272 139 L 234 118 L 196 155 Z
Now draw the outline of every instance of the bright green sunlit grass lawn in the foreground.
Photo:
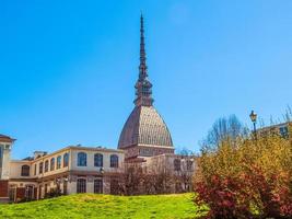
M 0 205 L 0 218 L 198 218 L 192 194 L 112 196 L 79 194 L 39 201 Z

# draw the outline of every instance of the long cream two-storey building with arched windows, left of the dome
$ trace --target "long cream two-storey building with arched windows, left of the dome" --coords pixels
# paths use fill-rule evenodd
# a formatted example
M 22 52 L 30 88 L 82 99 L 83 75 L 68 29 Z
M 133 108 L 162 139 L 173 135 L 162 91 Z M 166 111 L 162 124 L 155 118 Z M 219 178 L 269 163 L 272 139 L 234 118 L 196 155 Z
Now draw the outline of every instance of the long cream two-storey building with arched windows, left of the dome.
M 24 160 L 7 159 L 3 163 L 2 201 L 40 199 L 50 194 L 115 194 L 124 172 L 124 151 L 70 146 L 49 154 L 36 151 Z

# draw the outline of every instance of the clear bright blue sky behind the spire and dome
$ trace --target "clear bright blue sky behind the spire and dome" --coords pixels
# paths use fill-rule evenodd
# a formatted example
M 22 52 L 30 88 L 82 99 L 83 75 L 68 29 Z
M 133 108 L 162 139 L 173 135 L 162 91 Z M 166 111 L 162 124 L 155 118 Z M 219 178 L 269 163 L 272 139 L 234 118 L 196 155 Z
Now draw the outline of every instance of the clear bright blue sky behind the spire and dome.
M 292 1 L 0 1 L 0 132 L 13 158 L 116 148 L 133 108 L 143 11 L 155 106 L 177 148 L 292 102 Z

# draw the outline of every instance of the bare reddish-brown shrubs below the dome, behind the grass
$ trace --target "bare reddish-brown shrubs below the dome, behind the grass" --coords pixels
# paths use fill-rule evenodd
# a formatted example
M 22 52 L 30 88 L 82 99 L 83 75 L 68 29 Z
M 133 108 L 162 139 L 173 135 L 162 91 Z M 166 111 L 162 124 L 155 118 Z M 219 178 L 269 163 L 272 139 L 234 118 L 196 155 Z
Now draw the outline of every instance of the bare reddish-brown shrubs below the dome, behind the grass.
M 179 159 L 184 159 L 180 163 Z M 160 160 L 152 161 L 151 166 L 143 168 L 141 163 L 125 164 L 125 173 L 119 178 L 115 194 L 122 195 L 156 195 L 192 192 L 194 162 L 192 154 L 180 154 L 174 172 L 172 166 L 165 168 Z M 175 185 L 175 186 L 174 186 Z

